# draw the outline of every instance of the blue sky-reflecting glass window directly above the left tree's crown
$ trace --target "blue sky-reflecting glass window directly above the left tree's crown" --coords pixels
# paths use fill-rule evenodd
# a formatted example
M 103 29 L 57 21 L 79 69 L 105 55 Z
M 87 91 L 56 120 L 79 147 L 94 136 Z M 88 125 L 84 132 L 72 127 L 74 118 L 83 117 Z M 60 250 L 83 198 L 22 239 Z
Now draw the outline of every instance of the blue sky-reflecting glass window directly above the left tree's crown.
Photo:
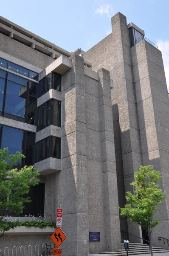
M 9 154 L 15 154 L 17 151 L 23 153 L 23 131 L 3 126 L 1 149 L 8 147 Z M 16 163 L 21 166 L 21 160 Z

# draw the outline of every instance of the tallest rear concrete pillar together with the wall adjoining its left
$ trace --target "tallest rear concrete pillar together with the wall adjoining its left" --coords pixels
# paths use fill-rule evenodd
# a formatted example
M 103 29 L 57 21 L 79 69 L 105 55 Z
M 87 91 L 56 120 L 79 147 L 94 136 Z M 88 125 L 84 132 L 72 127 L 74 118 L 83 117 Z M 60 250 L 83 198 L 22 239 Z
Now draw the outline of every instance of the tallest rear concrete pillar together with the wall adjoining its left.
M 109 70 L 110 79 L 113 79 L 111 99 L 115 133 L 118 201 L 119 206 L 123 207 L 125 191 L 132 189 L 130 183 L 133 180 L 134 171 L 139 168 L 142 162 L 127 21 L 121 13 L 113 16 L 111 21 L 112 33 L 87 51 L 84 58 L 92 63 L 92 68 L 95 71 L 98 67 Z M 106 50 L 103 51 L 103 49 Z M 121 230 L 141 236 L 138 225 L 135 225 L 133 229 L 130 222 L 127 224 L 126 218 L 120 217 L 120 220 Z M 130 241 L 140 240 L 130 237 Z

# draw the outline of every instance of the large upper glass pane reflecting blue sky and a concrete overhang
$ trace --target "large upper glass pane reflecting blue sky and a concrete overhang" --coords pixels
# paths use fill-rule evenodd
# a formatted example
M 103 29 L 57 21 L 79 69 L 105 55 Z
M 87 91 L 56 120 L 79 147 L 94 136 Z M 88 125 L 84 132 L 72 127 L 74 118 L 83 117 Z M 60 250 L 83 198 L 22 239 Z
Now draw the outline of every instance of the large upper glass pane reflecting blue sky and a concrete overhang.
M 7 82 L 5 112 L 25 117 L 27 87 Z

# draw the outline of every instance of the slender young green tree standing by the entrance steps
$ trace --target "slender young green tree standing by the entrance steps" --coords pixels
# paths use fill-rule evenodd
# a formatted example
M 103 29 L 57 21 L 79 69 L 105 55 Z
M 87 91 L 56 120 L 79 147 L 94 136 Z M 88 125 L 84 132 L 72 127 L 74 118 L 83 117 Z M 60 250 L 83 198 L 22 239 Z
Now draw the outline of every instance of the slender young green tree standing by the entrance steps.
M 152 253 L 152 230 L 160 220 L 153 217 L 158 204 L 163 202 L 165 194 L 157 184 L 161 179 L 161 172 L 153 170 L 153 166 L 140 166 L 140 172 L 135 172 L 135 181 L 130 185 L 135 187 L 134 192 L 127 192 L 127 202 L 121 209 L 120 215 L 129 217 L 131 222 L 142 226 L 149 237 L 150 252 Z

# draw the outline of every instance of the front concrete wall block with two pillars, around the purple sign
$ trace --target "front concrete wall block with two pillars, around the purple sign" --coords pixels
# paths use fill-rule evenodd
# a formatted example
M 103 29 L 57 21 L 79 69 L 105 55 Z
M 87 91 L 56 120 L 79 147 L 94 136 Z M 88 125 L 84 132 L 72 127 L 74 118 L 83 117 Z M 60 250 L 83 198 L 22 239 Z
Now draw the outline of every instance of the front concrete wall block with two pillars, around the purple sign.
M 90 78 L 77 55 L 72 65 L 62 75 L 62 171 L 46 177 L 45 211 L 55 193 L 49 211 L 63 208 L 64 254 L 87 255 L 121 246 L 110 74 Z M 101 241 L 89 242 L 89 232 Z

